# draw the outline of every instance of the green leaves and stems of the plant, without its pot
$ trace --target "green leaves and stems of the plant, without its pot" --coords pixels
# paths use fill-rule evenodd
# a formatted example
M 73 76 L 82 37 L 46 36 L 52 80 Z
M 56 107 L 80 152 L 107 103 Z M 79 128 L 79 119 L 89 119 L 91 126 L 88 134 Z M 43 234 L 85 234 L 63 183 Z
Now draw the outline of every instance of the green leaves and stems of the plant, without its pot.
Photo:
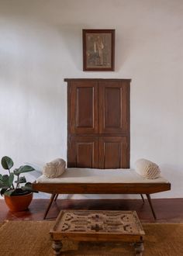
M 19 168 L 10 171 L 14 163 L 10 157 L 2 157 L 2 167 L 9 171 L 8 175 L 0 174 L 0 189 L 1 195 L 26 195 L 32 190 L 31 183 L 26 182 L 25 176 L 20 176 L 22 173 L 34 171 L 35 169 L 29 165 L 22 165 Z M 16 179 L 16 180 L 15 180 Z M 20 184 L 26 183 L 20 187 Z

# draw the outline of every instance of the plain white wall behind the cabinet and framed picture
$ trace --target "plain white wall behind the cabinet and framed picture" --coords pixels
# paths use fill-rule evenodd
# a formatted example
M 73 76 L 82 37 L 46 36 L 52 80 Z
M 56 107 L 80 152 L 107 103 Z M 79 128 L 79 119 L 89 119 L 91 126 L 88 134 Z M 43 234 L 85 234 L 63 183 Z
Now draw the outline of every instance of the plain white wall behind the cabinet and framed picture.
M 82 71 L 81 29 L 116 29 L 116 71 Z M 181 0 L 0 0 L 0 157 L 66 158 L 64 78 L 132 78 L 131 167 L 157 162 L 154 197 L 182 197 L 182 46 Z

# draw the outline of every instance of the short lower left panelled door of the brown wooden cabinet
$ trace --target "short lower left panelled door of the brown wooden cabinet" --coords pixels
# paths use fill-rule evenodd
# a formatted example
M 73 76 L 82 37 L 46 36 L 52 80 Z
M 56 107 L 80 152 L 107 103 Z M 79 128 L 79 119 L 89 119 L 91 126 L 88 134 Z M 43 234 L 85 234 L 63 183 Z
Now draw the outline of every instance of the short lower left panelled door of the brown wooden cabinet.
M 70 137 L 67 167 L 98 168 L 98 137 Z

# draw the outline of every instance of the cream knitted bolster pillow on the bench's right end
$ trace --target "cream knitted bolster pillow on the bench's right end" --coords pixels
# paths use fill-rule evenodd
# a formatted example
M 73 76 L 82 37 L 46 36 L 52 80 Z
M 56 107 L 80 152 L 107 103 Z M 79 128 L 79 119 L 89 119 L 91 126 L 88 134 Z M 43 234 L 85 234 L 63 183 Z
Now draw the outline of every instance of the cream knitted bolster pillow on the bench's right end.
M 161 170 L 157 164 L 146 159 L 139 159 L 136 161 L 136 172 L 144 178 L 158 178 Z

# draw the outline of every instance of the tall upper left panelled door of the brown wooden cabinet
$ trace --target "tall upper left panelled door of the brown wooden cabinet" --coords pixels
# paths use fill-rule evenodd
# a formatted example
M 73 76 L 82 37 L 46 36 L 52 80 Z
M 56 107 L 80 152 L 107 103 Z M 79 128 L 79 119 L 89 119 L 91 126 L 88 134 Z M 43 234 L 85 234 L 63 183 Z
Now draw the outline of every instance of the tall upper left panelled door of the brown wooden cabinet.
M 68 88 L 70 133 L 98 133 L 98 85 L 96 81 L 71 81 Z

